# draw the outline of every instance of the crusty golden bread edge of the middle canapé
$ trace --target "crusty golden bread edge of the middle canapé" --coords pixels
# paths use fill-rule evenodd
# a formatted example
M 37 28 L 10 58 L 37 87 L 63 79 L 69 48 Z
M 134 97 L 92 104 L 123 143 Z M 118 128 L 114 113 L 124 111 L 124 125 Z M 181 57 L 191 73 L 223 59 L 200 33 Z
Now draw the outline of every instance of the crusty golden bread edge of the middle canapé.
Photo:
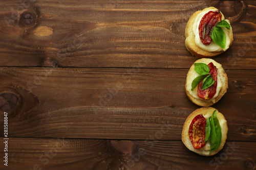
M 208 60 L 208 59 L 207 58 L 202 58 L 202 59 L 197 60 L 196 62 L 200 63 L 203 60 Z M 187 72 L 187 75 L 188 75 L 189 72 L 193 71 L 193 68 L 194 67 L 192 67 L 192 66 L 190 67 L 190 69 Z M 222 88 L 221 88 L 221 90 L 219 92 L 219 95 L 215 98 L 215 103 L 217 103 L 222 98 L 222 96 L 227 92 L 227 89 L 228 89 L 227 74 L 226 74 L 226 72 L 225 72 L 225 70 L 223 69 L 222 66 L 218 69 L 218 74 L 220 74 L 220 77 L 222 78 L 223 86 L 222 86 Z M 220 80 L 217 80 L 217 81 L 220 81 Z M 194 98 L 192 95 L 190 95 L 189 91 L 187 91 L 187 86 L 188 86 L 188 84 L 187 84 L 187 79 L 186 79 L 185 91 L 186 91 L 186 95 L 187 95 L 188 99 L 191 102 L 195 103 L 198 106 L 203 106 L 203 107 L 208 107 L 208 106 L 211 106 L 211 105 L 215 104 L 212 101 L 211 102 L 206 102 L 206 101 L 204 101 L 202 99 Z

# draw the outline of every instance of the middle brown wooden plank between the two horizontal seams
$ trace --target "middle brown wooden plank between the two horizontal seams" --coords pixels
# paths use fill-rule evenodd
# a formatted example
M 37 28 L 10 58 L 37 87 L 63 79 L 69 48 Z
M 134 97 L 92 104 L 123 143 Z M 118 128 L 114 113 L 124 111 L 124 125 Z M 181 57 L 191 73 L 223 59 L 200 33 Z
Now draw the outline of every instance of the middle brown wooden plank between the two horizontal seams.
M 162 140 L 180 140 L 185 119 L 199 108 L 185 95 L 188 70 L 135 71 L 1 67 L 10 137 L 143 140 L 167 129 Z M 255 141 L 256 70 L 227 74 L 228 92 L 213 107 L 227 119 L 227 140 Z

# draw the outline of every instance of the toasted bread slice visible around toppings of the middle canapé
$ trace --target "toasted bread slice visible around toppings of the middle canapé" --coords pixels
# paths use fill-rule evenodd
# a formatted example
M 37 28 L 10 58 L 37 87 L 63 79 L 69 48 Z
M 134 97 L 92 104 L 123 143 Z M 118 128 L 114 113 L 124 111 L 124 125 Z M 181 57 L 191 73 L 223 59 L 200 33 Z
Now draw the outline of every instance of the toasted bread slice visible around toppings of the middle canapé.
M 222 84 L 222 87 L 221 87 L 221 89 L 219 91 L 219 94 L 215 98 L 215 102 L 214 101 L 208 102 L 208 101 L 203 100 L 203 99 L 196 99 L 196 98 L 194 98 L 193 95 L 191 95 L 189 93 L 188 90 L 190 90 L 189 89 L 190 84 L 188 84 L 188 78 L 195 71 L 195 65 L 194 64 L 190 67 L 190 69 L 189 69 L 189 71 L 187 73 L 187 79 L 186 79 L 186 85 L 185 85 L 186 95 L 188 96 L 190 101 L 195 103 L 196 105 L 203 106 L 203 107 L 208 107 L 208 106 L 211 106 L 211 105 L 217 103 L 222 98 L 222 96 L 227 92 L 227 88 L 228 88 L 227 74 L 225 73 L 225 70 L 223 69 L 223 67 L 222 67 L 222 65 L 220 63 L 216 62 L 215 60 L 208 59 L 208 58 L 199 59 L 195 63 L 205 63 L 205 64 L 208 64 L 210 62 L 214 63 L 214 65 L 218 68 L 218 75 L 220 77 L 220 80 L 217 79 L 217 84 L 218 84 L 219 81 Z

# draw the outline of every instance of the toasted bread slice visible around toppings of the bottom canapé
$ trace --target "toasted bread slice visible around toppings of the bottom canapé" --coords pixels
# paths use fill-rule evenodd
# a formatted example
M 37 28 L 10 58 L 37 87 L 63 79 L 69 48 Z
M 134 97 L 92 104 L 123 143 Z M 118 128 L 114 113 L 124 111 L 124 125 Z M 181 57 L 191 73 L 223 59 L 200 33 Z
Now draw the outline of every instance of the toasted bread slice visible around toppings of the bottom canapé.
M 183 130 L 182 130 L 182 142 L 186 145 L 186 147 L 190 150 L 193 151 L 199 155 L 203 155 L 203 156 L 211 156 L 211 155 L 215 155 L 217 154 L 224 146 L 226 139 L 227 139 L 227 131 L 228 131 L 228 127 L 227 127 L 227 121 L 224 117 L 224 115 L 222 113 L 220 113 L 217 110 L 217 118 L 220 122 L 220 126 L 221 126 L 221 133 L 222 133 L 222 138 L 221 138 L 221 144 L 220 147 L 215 150 L 212 151 L 211 154 L 209 154 L 209 150 L 210 150 L 210 140 L 208 140 L 206 142 L 206 145 L 200 149 L 194 149 L 193 144 L 191 143 L 189 136 L 188 136 L 188 129 L 189 129 L 189 125 L 191 123 L 191 121 L 194 119 L 194 117 L 198 114 L 203 114 L 203 116 L 207 119 L 208 117 L 210 117 L 212 115 L 212 113 L 215 111 L 215 108 L 212 107 L 203 107 L 200 109 L 195 110 L 193 113 L 191 113 L 184 125 L 183 125 Z

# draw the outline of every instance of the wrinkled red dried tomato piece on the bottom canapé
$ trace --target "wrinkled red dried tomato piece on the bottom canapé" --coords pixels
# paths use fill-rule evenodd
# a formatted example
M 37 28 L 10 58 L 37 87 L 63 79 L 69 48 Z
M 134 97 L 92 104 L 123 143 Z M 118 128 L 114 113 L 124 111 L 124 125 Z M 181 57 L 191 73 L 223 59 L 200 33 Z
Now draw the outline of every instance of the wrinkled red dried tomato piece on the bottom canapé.
M 197 115 L 190 123 L 188 135 L 195 149 L 202 148 L 205 145 L 205 126 L 206 119 L 203 114 Z

